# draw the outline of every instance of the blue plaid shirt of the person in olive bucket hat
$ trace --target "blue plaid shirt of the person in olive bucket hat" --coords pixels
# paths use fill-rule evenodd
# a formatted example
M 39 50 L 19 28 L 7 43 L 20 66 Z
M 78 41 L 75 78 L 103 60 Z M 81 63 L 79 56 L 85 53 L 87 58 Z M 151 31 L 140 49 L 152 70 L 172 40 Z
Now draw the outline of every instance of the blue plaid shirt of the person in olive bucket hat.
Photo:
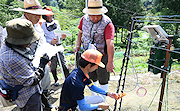
M 26 105 L 33 94 L 41 93 L 39 85 L 31 86 L 35 75 L 31 61 L 4 44 L 0 50 L 0 74 L 11 87 L 15 85 L 24 86 L 18 92 L 17 99 L 13 101 L 20 108 Z

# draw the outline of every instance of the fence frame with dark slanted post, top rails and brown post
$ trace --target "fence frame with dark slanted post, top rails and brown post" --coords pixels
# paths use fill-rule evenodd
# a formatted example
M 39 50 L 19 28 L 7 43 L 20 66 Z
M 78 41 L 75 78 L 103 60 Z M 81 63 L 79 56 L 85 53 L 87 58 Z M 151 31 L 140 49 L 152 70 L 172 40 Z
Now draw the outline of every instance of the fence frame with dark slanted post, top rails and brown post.
M 119 87 L 121 85 L 121 79 L 122 79 L 122 73 L 124 71 L 124 67 L 125 67 L 125 71 L 124 71 L 124 78 L 123 78 L 123 83 L 122 83 L 122 90 L 121 92 L 123 93 L 124 91 L 124 85 L 125 85 L 125 78 L 126 78 L 126 72 L 127 72 L 127 65 L 128 65 L 128 61 L 129 61 L 129 52 L 130 52 L 130 46 L 131 46 L 131 43 L 132 43 L 132 32 L 133 32 L 133 27 L 134 27 L 134 24 L 135 22 L 158 22 L 158 23 L 180 23 L 180 19 L 172 19 L 174 17 L 180 17 L 179 15 L 172 15 L 172 16 L 133 16 L 131 19 L 132 19 L 132 24 L 131 24 L 131 30 L 130 30 L 130 35 L 129 35 L 129 39 L 128 39 L 128 43 L 127 43 L 127 46 L 126 46 L 126 50 L 125 50 L 125 53 L 124 53 L 124 59 L 123 59 L 123 63 L 122 63 L 122 67 L 121 67 L 121 73 L 120 73 L 120 79 L 118 81 L 118 87 L 117 87 L 117 93 L 119 92 Z M 142 20 L 142 19 L 148 19 L 148 20 Z M 178 36 L 177 34 L 175 36 Z M 160 99 L 159 99 L 159 108 L 158 110 L 161 111 L 161 106 L 162 106 L 162 103 L 163 103 L 163 95 L 164 95 L 164 89 L 165 89 L 165 82 L 167 81 L 167 89 L 166 91 L 168 90 L 168 79 L 166 80 L 166 75 L 167 73 L 169 73 L 169 66 L 170 66 L 170 52 L 176 52 L 176 51 L 172 51 L 170 50 L 170 47 L 171 47 L 171 44 L 172 44 L 172 38 L 174 36 L 168 36 L 168 43 L 167 43 L 167 49 L 163 49 L 161 48 L 162 50 L 166 50 L 166 57 L 165 57 L 165 63 L 164 63 L 164 68 L 161 69 L 162 70 L 162 73 L 161 73 L 161 78 L 163 79 L 162 80 L 162 84 L 161 84 L 161 94 L 160 94 Z M 156 47 L 156 48 L 159 48 L 159 47 Z M 176 52 L 178 53 L 178 52 Z M 126 63 L 125 63 L 126 62 Z M 151 65 L 151 64 L 148 64 L 150 66 L 153 66 L 155 67 L 154 65 Z M 157 67 L 156 67 L 157 68 Z M 166 93 L 168 96 L 168 93 Z M 119 110 L 121 110 L 121 104 L 122 104 L 122 98 L 119 102 Z M 116 111 L 116 105 L 117 105 L 117 100 L 115 101 L 115 104 L 114 104 L 114 111 Z M 150 104 L 151 105 L 151 104 Z M 165 107 L 167 109 L 168 107 L 168 103 L 165 103 Z

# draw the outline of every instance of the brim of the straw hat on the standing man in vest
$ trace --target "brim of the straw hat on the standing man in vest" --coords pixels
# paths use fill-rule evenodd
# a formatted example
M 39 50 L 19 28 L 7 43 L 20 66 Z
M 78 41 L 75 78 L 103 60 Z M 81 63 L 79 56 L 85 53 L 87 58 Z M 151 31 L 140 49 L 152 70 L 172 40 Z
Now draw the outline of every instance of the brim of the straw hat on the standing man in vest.
M 83 13 L 90 14 L 90 15 L 100 15 L 108 12 L 106 7 L 97 8 L 97 9 L 88 9 L 88 7 L 83 9 Z

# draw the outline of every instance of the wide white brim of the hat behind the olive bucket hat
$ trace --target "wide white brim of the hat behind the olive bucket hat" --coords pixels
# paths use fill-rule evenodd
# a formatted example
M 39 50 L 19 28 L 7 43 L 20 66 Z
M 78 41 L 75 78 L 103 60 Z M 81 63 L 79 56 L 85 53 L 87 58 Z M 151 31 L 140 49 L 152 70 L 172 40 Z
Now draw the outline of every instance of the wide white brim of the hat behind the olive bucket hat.
M 51 11 L 48 10 L 43 10 L 43 9 L 30 9 L 30 10 L 26 10 L 26 9 L 22 9 L 22 8 L 14 8 L 14 11 L 21 11 L 21 12 L 27 12 L 27 13 L 31 13 L 31 14 L 36 14 L 36 15 L 48 15 L 51 14 Z

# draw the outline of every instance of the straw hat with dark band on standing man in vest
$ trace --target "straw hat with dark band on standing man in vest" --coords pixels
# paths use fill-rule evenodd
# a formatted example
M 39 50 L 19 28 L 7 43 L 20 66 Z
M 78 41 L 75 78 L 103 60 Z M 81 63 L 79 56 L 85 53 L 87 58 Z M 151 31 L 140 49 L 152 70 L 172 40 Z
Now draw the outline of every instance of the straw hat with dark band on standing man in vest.
M 108 9 L 103 6 L 102 0 L 89 0 L 88 7 L 83 9 L 83 13 L 89 15 L 101 15 L 108 12 Z

